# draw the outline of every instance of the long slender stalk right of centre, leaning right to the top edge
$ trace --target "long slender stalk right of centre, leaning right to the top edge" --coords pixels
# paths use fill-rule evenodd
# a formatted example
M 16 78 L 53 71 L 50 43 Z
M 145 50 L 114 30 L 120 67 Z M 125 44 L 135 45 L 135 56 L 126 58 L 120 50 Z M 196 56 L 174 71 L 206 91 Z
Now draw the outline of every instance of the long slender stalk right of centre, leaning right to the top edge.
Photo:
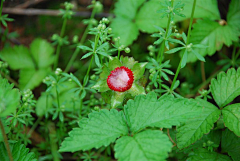
M 195 11 L 195 7 L 196 7 L 196 2 L 197 0 L 194 0 L 193 2 L 193 7 L 192 7 L 192 14 L 191 14 L 191 20 L 190 20 L 190 24 L 189 24 L 189 27 L 188 27 L 188 35 L 187 35 L 187 43 L 186 45 L 188 45 L 189 43 L 189 39 L 190 39 L 190 34 L 191 34 L 191 29 L 192 29 L 192 22 L 193 22 L 193 16 L 194 16 L 194 11 Z M 186 49 L 187 50 L 187 49 Z M 173 79 L 173 82 L 172 82 L 172 85 L 171 85 L 171 88 L 170 88 L 170 91 L 172 91 L 173 87 L 174 87 L 174 84 L 177 80 L 177 77 L 178 77 L 178 74 L 180 72 L 180 69 L 181 69 L 181 63 L 182 63 L 182 59 L 183 59 L 183 56 L 178 64 L 178 68 L 177 68 L 177 71 L 176 71 L 176 74 L 174 76 L 174 79 Z

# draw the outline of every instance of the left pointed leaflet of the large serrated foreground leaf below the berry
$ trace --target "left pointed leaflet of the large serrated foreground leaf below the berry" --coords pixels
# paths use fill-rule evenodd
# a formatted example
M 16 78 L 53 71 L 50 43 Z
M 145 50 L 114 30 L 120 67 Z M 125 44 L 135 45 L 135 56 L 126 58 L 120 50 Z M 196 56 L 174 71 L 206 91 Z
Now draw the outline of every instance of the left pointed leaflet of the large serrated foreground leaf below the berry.
M 59 151 L 75 152 L 108 146 L 118 137 L 128 134 L 123 112 L 115 109 L 92 112 L 81 128 L 74 128 Z

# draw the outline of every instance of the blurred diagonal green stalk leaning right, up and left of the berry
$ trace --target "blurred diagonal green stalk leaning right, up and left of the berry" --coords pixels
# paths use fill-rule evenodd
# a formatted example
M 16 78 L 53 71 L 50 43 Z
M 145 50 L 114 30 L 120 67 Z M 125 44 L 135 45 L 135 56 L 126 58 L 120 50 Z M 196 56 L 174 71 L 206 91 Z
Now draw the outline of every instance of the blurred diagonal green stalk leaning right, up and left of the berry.
M 94 8 L 93 11 L 92 11 L 90 20 L 92 20 L 94 18 L 95 14 L 96 14 L 96 9 Z M 87 27 L 86 27 L 86 29 L 84 31 L 83 36 L 82 36 L 82 38 L 80 40 L 80 43 L 79 43 L 80 45 L 85 42 L 86 37 L 87 37 L 87 33 L 88 33 L 90 28 L 92 28 L 92 24 L 91 23 L 89 23 L 87 25 Z M 73 64 L 74 60 L 76 59 L 76 57 L 77 57 L 79 52 L 80 52 L 80 48 L 76 47 L 76 49 L 75 49 L 75 51 L 74 51 L 70 61 L 68 62 L 67 67 L 65 68 L 64 72 L 68 72 L 69 71 L 69 69 L 71 68 L 71 66 L 72 66 L 72 64 Z

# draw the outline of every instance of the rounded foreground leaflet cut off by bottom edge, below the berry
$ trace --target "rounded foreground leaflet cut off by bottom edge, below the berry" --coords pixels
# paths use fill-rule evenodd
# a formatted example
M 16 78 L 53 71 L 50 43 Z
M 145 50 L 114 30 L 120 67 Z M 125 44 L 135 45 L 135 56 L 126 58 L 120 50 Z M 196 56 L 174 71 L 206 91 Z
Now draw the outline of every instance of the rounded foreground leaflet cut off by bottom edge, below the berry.
M 119 161 L 163 161 L 171 148 L 172 143 L 162 131 L 146 130 L 118 139 L 114 150 Z

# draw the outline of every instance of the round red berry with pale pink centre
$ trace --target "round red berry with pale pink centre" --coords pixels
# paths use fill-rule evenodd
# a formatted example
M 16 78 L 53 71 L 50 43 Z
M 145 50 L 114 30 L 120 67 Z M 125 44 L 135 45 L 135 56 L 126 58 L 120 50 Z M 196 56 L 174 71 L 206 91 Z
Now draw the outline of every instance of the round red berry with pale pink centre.
M 111 71 L 107 84 L 111 90 L 124 92 L 132 87 L 133 81 L 133 72 L 129 68 L 121 66 Z

